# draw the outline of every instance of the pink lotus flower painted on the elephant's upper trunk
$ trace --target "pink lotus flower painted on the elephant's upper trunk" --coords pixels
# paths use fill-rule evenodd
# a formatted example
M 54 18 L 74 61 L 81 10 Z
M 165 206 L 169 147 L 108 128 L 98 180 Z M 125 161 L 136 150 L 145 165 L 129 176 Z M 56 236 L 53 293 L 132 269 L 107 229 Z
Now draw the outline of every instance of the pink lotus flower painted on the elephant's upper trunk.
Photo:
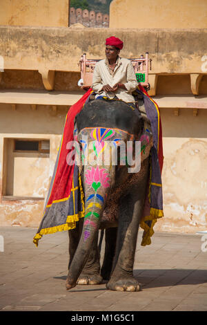
M 105 168 L 99 169 L 99 166 L 96 168 L 91 167 L 91 169 L 88 169 L 86 171 L 86 184 L 92 185 L 92 183 L 101 183 L 103 187 L 109 187 L 110 184 L 108 181 L 110 180 L 108 172 Z

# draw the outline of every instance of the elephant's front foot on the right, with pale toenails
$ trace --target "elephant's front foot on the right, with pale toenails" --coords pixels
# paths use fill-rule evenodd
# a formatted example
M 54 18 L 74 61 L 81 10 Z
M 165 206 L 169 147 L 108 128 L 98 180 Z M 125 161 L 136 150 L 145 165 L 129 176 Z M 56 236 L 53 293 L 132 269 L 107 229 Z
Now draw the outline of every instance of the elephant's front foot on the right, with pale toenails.
M 108 290 L 114 290 L 114 291 L 139 291 L 140 286 L 139 282 L 132 276 L 127 277 L 111 277 L 108 284 L 106 284 L 106 288 Z

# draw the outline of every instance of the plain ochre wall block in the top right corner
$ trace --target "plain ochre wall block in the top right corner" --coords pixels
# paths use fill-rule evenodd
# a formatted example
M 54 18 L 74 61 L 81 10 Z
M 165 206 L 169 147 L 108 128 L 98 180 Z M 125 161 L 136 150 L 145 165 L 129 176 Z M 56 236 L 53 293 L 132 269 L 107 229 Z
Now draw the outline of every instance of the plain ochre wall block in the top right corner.
M 109 27 L 206 28 L 206 12 L 206 0 L 113 0 Z

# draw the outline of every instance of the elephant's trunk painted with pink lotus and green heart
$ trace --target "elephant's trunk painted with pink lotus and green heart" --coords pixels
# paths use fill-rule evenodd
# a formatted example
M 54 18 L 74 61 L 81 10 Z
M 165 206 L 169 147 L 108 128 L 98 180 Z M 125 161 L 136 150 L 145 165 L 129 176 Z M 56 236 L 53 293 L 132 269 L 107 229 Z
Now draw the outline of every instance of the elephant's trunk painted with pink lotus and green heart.
M 111 167 L 86 166 L 83 171 L 85 192 L 85 218 L 79 245 L 68 270 L 66 288 L 77 284 L 77 279 L 86 264 L 92 243 L 99 232 L 104 201 L 111 184 Z

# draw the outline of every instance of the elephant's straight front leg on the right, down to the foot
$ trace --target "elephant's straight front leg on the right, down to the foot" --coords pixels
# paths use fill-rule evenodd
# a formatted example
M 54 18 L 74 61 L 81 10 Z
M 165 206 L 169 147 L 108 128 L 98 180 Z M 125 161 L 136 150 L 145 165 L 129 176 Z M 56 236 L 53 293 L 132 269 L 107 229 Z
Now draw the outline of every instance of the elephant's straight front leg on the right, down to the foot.
M 139 282 L 133 277 L 133 266 L 146 194 L 147 171 L 144 174 L 145 177 L 142 178 L 141 183 L 133 188 L 120 203 L 117 248 L 112 275 L 106 285 L 109 290 L 139 291 Z

